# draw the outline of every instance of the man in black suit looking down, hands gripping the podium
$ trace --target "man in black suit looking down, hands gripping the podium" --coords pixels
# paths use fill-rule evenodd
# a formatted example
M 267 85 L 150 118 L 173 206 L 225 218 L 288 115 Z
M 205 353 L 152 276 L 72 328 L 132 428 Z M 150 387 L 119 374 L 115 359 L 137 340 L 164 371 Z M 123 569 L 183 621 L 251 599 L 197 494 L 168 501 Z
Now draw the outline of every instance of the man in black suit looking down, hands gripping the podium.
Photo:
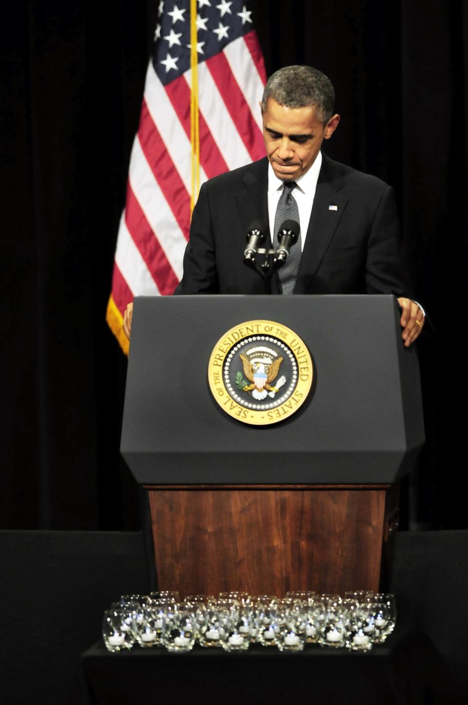
M 340 122 L 330 80 L 310 66 L 269 78 L 260 108 L 267 157 L 202 185 L 176 294 L 394 294 L 406 347 L 424 326 L 411 298 L 393 189 L 321 152 Z M 242 261 L 251 223 L 278 247 L 297 225 L 287 262 L 271 278 Z M 130 337 L 133 305 L 123 330 Z

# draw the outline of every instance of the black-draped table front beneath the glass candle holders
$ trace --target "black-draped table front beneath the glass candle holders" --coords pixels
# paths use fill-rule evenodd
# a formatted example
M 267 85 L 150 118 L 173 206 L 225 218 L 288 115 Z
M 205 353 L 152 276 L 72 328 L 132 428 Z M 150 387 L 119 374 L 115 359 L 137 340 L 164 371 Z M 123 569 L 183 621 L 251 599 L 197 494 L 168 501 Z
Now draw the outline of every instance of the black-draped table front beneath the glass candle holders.
M 366 654 L 316 645 L 293 654 L 257 645 L 242 654 L 201 646 L 189 654 L 138 646 L 109 654 L 98 642 L 82 668 L 88 705 L 463 702 L 430 639 L 401 630 Z

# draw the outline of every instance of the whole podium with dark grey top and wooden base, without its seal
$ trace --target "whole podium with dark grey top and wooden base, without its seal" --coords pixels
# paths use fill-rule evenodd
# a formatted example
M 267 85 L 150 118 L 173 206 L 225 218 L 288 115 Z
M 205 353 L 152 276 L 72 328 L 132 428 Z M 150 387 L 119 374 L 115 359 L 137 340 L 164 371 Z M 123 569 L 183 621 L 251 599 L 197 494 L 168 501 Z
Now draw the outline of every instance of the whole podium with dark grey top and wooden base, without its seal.
M 212 395 L 217 341 L 245 321 L 295 331 L 307 400 L 271 425 Z M 159 589 L 378 589 L 398 483 L 424 443 L 417 352 L 392 296 L 137 298 L 121 453 L 149 493 Z

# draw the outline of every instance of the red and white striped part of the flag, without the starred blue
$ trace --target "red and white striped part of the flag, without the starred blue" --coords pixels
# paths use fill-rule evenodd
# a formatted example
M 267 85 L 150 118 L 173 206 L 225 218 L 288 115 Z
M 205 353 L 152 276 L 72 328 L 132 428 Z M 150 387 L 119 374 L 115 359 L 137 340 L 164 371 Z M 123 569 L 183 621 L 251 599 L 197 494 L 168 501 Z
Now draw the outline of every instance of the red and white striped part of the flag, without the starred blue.
M 264 156 L 266 74 L 254 31 L 198 66 L 200 184 Z M 112 298 L 173 293 L 190 230 L 190 71 L 167 86 L 149 62 L 118 230 Z

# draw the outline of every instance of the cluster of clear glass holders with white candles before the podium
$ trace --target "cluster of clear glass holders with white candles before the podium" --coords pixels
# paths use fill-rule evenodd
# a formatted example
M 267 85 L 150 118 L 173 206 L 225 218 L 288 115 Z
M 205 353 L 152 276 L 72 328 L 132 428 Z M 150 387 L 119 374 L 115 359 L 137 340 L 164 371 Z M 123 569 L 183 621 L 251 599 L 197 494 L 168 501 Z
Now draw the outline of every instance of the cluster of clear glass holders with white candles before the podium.
M 159 591 L 121 596 L 104 613 L 102 634 L 112 652 L 139 644 L 183 653 L 195 642 L 229 652 L 253 643 L 280 651 L 302 651 L 306 644 L 369 651 L 386 640 L 395 621 L 394 596 L 372 591 L 344 596 L 294 591 L 281 599 L 226 592 L 217 599 L 191 595 L 183 601 L 177 591 Z

